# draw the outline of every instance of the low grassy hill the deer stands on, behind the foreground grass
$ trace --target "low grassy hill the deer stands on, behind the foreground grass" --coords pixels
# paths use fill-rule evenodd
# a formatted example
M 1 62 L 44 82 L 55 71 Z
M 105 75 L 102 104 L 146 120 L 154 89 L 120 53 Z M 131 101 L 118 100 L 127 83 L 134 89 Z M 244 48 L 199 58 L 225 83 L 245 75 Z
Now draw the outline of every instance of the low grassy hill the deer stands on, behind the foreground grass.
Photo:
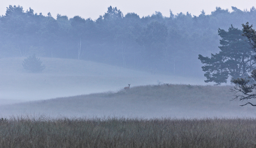
M 0 106 L 0 116 L 70 117 L 255 117 L 256 108 L 231 101 L 231 86 L 146 85 Z

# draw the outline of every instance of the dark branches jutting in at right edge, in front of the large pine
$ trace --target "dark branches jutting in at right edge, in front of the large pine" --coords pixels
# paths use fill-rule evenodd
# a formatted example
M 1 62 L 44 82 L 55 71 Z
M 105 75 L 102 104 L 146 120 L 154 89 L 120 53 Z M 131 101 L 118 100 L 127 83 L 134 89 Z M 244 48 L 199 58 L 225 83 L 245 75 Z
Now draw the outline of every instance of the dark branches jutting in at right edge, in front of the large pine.
M 248 38 L 248 43 L 250 47 L 256 52 L 256 32 L 252 28 L 253 25 L 249 26 L 249 23 L 243 25 L 243 36 Z M 256 57 L 255 57 L 256 58 Z M 233 78 L 232 82 L 235 84 L 235 87 L 232 89 L 233 92 L 238 93 L 239 95 L 235 95 L 234 99 L 239 99 L 240 101 L 248 100 L 252 98 L 256 98 L 256 69 L 251 72 L 249 77 L 245 78 Z M 243 95 L 240 95 L 240 94 Z M 245 103 L 244 105 L 253 105 L 250 102 Z M 240 106 L 244 106 L 240 105 Z

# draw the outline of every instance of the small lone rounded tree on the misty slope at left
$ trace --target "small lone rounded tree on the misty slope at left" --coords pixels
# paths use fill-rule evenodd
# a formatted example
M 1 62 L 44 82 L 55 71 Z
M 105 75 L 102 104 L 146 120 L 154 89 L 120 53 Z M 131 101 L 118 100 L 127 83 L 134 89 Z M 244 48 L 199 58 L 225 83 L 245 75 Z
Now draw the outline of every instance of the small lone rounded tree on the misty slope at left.
M 45 69 L 45 65 L 42 65 L 42 61 L 35 54 L 24 59 L 22 66 L 31 72 L 42 72 Z

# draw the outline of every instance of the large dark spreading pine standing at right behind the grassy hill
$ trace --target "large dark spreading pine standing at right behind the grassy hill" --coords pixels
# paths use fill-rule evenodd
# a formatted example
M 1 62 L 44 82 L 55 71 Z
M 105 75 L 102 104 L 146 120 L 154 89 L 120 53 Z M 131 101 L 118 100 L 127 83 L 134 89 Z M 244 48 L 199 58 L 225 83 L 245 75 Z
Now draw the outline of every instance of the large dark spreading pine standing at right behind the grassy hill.
M 248 77 L 248 73 L 255 68 L 255 58 L 253 50 L 247 43 L 246 37 L 242 36 L 242 31 L 231 26 L 228 31 L 218 29 L 220 40 L 220 52 L 211 57 L 199 55 L 203 66 L 205 82 L 227 83 L 228 77 L 239 78 Z

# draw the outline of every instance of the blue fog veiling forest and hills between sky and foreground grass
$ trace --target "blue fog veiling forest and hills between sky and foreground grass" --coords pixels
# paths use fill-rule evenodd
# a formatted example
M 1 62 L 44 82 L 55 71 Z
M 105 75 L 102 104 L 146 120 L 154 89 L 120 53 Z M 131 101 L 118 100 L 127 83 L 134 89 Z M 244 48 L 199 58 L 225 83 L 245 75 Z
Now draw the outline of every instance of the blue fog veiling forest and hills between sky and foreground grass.
M 92 20 L 9 6 L 0 17 L 0 115 L 253 117 L 253 107 L 230 101 L 230 78 L 204 82 L 199 55 L 220 51 L 218 29 L 256 24 L 255 14 L 216 7 L 141 17 L 109 6 Z M 32 55 L 42 63 L 28 65 L 42 70 L 26 69 Z

